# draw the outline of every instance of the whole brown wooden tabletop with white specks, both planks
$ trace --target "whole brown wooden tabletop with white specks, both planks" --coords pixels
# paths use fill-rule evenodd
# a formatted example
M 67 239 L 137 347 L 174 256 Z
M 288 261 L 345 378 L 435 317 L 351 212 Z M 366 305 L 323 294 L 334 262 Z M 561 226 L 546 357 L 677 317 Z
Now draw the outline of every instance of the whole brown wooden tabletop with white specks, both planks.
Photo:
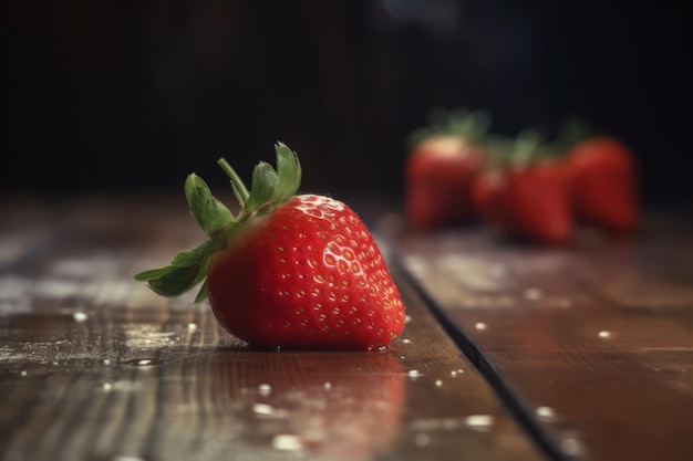
M 385 353 L 249 350 L 134 282 L 204 238 L 182 197 L 3 198 L 0 460 L 693 459 L 690 227 L 547 250 L 354 208 L 407 308 Z

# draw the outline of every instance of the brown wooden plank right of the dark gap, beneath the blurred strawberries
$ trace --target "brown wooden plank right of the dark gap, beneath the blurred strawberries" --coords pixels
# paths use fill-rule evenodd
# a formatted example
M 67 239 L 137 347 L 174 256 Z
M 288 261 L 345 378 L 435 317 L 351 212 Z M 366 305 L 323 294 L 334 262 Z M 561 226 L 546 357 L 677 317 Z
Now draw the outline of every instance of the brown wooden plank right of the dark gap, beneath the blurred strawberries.
M 683 461 L 693 459 L 692 230 L 652 216 L 632 239 L 581 229 L 566 249 L 483 228 L 393 239 L 451 334 L 558 452 Z

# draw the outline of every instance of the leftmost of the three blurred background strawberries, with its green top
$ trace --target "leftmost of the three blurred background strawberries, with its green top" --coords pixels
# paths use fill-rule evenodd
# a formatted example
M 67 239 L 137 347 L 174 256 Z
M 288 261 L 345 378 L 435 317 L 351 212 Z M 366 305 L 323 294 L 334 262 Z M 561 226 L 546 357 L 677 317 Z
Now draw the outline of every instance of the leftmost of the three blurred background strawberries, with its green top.
M 421 230 L 436 230 L 475 217 L 472 184 L 484 163 L 484 113 L 432 114 L 432 125 L 410 137 L 405 165 L 405 214 Z

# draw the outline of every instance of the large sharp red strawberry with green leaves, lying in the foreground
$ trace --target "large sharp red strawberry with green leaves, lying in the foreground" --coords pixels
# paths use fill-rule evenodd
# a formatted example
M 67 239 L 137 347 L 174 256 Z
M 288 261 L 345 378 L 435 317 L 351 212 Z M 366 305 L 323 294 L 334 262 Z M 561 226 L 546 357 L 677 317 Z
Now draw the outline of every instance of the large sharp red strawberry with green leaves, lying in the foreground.
M 190 210 L 209 240 L 168 266 L 135 276 L 164 296 L 200 282 L 219 323 L 255 347 L 373 349 L 404 327 L 404 305 L 365 224 L 341 201 L 300 195 L 296 154 L 278 143 L 277 169 L 260 163 L 248 191 L 224 158 L 234 216 L 192 174 Z M 206 279 L 206 280 L 205 280 Z

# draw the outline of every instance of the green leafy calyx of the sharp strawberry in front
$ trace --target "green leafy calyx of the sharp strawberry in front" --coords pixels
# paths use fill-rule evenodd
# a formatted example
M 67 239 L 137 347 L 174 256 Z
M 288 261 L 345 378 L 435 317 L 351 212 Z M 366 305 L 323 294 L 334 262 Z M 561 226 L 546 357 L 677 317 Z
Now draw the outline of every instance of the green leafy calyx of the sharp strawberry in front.
M 218 160 L 218 165 L 229 177 L 234 196 L 240 205 L 236 216 L 211 195 L 203 178 L 196 174 L 188 175 L 185 181 L 185 196 L 193 218 L 209 239 L 193 250 L 176 254 L 168 265 L 141 272 L 134 279 L 147 282 L 155 293 L 167 297 L 179 296 L 203 283 L 195 303 L 205 300 L 211 254 L 225 249 L 227 239 L 242 223 L 258 216 L 271 213 L 292 198 L 300 187 L 301 166 L 296 153 L 282 143 L 275 145 L 275 151 L 277 169 L 265 161 L 256 165 L 249 190 L 225 158 Z

